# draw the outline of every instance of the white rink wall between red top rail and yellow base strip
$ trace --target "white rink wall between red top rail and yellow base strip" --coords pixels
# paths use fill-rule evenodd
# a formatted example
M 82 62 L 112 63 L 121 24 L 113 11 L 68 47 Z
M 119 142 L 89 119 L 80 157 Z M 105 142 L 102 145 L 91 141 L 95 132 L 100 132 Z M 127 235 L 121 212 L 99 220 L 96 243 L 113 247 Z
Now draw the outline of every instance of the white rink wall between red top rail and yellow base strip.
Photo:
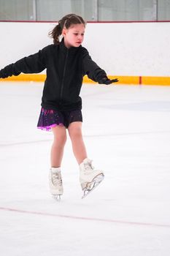
M 53 43 L 57 23 L 0 22 L 0 69 Z M 83 46 L 108 75 L 170 75 L 170 23 L 88 23 Z

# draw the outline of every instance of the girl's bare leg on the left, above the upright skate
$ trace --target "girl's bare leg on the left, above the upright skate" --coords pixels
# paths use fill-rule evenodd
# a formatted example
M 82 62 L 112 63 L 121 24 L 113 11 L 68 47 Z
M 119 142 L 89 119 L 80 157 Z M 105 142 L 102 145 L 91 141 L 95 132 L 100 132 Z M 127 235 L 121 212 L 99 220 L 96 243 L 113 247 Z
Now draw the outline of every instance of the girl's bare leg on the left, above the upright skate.
M 51 148 L 51 167 L 61 167 L 63 148 L 66 143 L 66 127 L 56 126 L 52 128 L 54 140 Z

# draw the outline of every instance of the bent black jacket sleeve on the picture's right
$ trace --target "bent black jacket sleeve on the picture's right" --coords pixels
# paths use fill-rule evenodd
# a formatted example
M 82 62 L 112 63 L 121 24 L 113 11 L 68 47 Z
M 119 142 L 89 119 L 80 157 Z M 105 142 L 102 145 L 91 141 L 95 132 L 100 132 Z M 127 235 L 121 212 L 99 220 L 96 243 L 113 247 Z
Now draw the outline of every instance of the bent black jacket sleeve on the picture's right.
M 102 78 L 107 77 L 107 73 L 98 67 L 96 62 L 91 59 L 88 50 L 85 48 L 82 49 L 82 69 L 84 75 L 88 75 L 88 78 L 95 82 L 99 82 Z

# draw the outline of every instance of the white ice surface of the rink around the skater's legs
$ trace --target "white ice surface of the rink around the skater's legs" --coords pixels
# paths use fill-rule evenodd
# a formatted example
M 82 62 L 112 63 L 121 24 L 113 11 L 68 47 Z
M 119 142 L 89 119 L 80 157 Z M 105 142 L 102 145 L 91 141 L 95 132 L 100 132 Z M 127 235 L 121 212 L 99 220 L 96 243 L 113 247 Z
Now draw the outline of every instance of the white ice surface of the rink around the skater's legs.
M 169 256 L 170 86 L 82 87 L 88 157 L 105 179 L 81 199 L 68 138 L 64 194 L 48 189 L 42 83 L 0 83 L 0 255 Z

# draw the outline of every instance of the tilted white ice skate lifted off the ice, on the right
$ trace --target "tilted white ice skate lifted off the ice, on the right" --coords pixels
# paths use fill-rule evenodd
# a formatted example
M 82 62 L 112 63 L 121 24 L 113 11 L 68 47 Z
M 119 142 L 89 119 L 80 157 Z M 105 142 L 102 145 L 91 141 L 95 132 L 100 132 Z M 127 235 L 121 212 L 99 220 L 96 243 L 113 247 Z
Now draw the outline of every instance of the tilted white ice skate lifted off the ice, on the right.
M 92 160 L 86 158 L 80 164 L 80 184 L 84 195 L 86 197 L 98 184 L 104 179 L 104 173 L 102 170 L 94 170 Z

